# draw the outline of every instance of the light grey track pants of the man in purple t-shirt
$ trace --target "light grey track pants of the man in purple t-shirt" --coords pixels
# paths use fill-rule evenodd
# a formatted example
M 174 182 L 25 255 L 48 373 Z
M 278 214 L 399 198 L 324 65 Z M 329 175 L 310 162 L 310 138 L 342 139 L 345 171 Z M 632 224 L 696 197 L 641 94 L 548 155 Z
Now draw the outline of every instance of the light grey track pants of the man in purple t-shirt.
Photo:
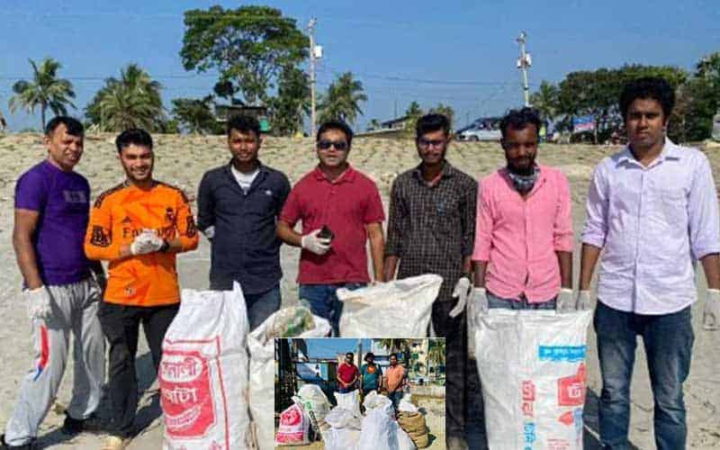
M 105 342 L 97 307 L 100 288 L 92 278 L 48 286 L 52 313 L 31 320 L 34 360 L 20 386 L 20 395 L 5 425 L 5 441 L 23 446 L 38 428 L 58 394 L 65 373 L 70 333 L 75 337 L 74 385 L 67 414 L 86 419 L 97 409 L 105 378 Z

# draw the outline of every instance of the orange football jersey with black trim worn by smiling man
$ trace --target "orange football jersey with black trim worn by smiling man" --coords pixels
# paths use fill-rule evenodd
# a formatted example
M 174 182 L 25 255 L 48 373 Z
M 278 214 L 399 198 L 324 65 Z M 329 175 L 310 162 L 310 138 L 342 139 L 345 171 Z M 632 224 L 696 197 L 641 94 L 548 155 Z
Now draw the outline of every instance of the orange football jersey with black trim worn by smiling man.
M 130 245 L 143 229 L 179 238 L 181 251 L 198 244 L 193 213 L 180 189 L 156 182 L 143 190 L 126 182 L 104 192 L 90 211 L 85 254 L 110 261 L 105 302 L 157 306 L 180 301 L 175 253 L 120 257 L 120 247 Z

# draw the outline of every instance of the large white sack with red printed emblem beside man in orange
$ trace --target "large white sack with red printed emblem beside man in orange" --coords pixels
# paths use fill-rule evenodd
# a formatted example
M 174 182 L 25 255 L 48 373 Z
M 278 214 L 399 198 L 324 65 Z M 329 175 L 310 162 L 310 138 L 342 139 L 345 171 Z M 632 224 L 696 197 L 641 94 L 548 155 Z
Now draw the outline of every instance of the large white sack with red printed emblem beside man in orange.
M 247 448 L 247 313 L 232 291 L 184 289 L 158 367 L 164 448 Z

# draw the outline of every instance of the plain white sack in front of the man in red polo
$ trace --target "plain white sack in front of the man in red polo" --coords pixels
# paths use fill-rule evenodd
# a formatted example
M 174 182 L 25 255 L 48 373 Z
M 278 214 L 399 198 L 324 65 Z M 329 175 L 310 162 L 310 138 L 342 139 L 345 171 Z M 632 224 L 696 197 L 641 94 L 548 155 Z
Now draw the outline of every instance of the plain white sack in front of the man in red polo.
M 338 289 L 344 303 L 343 338 L 423 338 L 428 336 L 432 305 L 440 292 L 440 275 L 419 275 L 355 291 Z

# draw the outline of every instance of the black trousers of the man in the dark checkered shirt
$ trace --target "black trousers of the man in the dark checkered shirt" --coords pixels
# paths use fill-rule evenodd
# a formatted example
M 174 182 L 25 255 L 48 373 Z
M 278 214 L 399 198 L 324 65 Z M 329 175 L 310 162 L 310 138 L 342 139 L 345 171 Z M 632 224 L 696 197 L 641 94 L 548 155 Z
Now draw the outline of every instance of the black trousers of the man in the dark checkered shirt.
M 446 436 L 463 437 L 465 429 L 465 370 L 467 366 L 467 323 L 465 311 L 455 319 L 449 313 L 457 299 L 433 303 L 433 329 L 446 339 Z

